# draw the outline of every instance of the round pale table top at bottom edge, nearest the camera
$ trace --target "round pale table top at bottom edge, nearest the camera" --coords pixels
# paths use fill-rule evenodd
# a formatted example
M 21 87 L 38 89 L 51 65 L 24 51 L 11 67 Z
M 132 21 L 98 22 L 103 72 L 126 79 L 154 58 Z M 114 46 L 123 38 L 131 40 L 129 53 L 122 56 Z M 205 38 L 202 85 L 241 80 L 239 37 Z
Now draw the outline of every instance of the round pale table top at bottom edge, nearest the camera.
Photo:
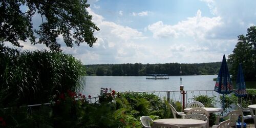
M 205 126 L 206 121 L 197 120 L 197 119 L 157 119 L 153 121 L 154 123 L 168 123 L 175 124 L 179 127 L 188 127 L 188 126 Z

